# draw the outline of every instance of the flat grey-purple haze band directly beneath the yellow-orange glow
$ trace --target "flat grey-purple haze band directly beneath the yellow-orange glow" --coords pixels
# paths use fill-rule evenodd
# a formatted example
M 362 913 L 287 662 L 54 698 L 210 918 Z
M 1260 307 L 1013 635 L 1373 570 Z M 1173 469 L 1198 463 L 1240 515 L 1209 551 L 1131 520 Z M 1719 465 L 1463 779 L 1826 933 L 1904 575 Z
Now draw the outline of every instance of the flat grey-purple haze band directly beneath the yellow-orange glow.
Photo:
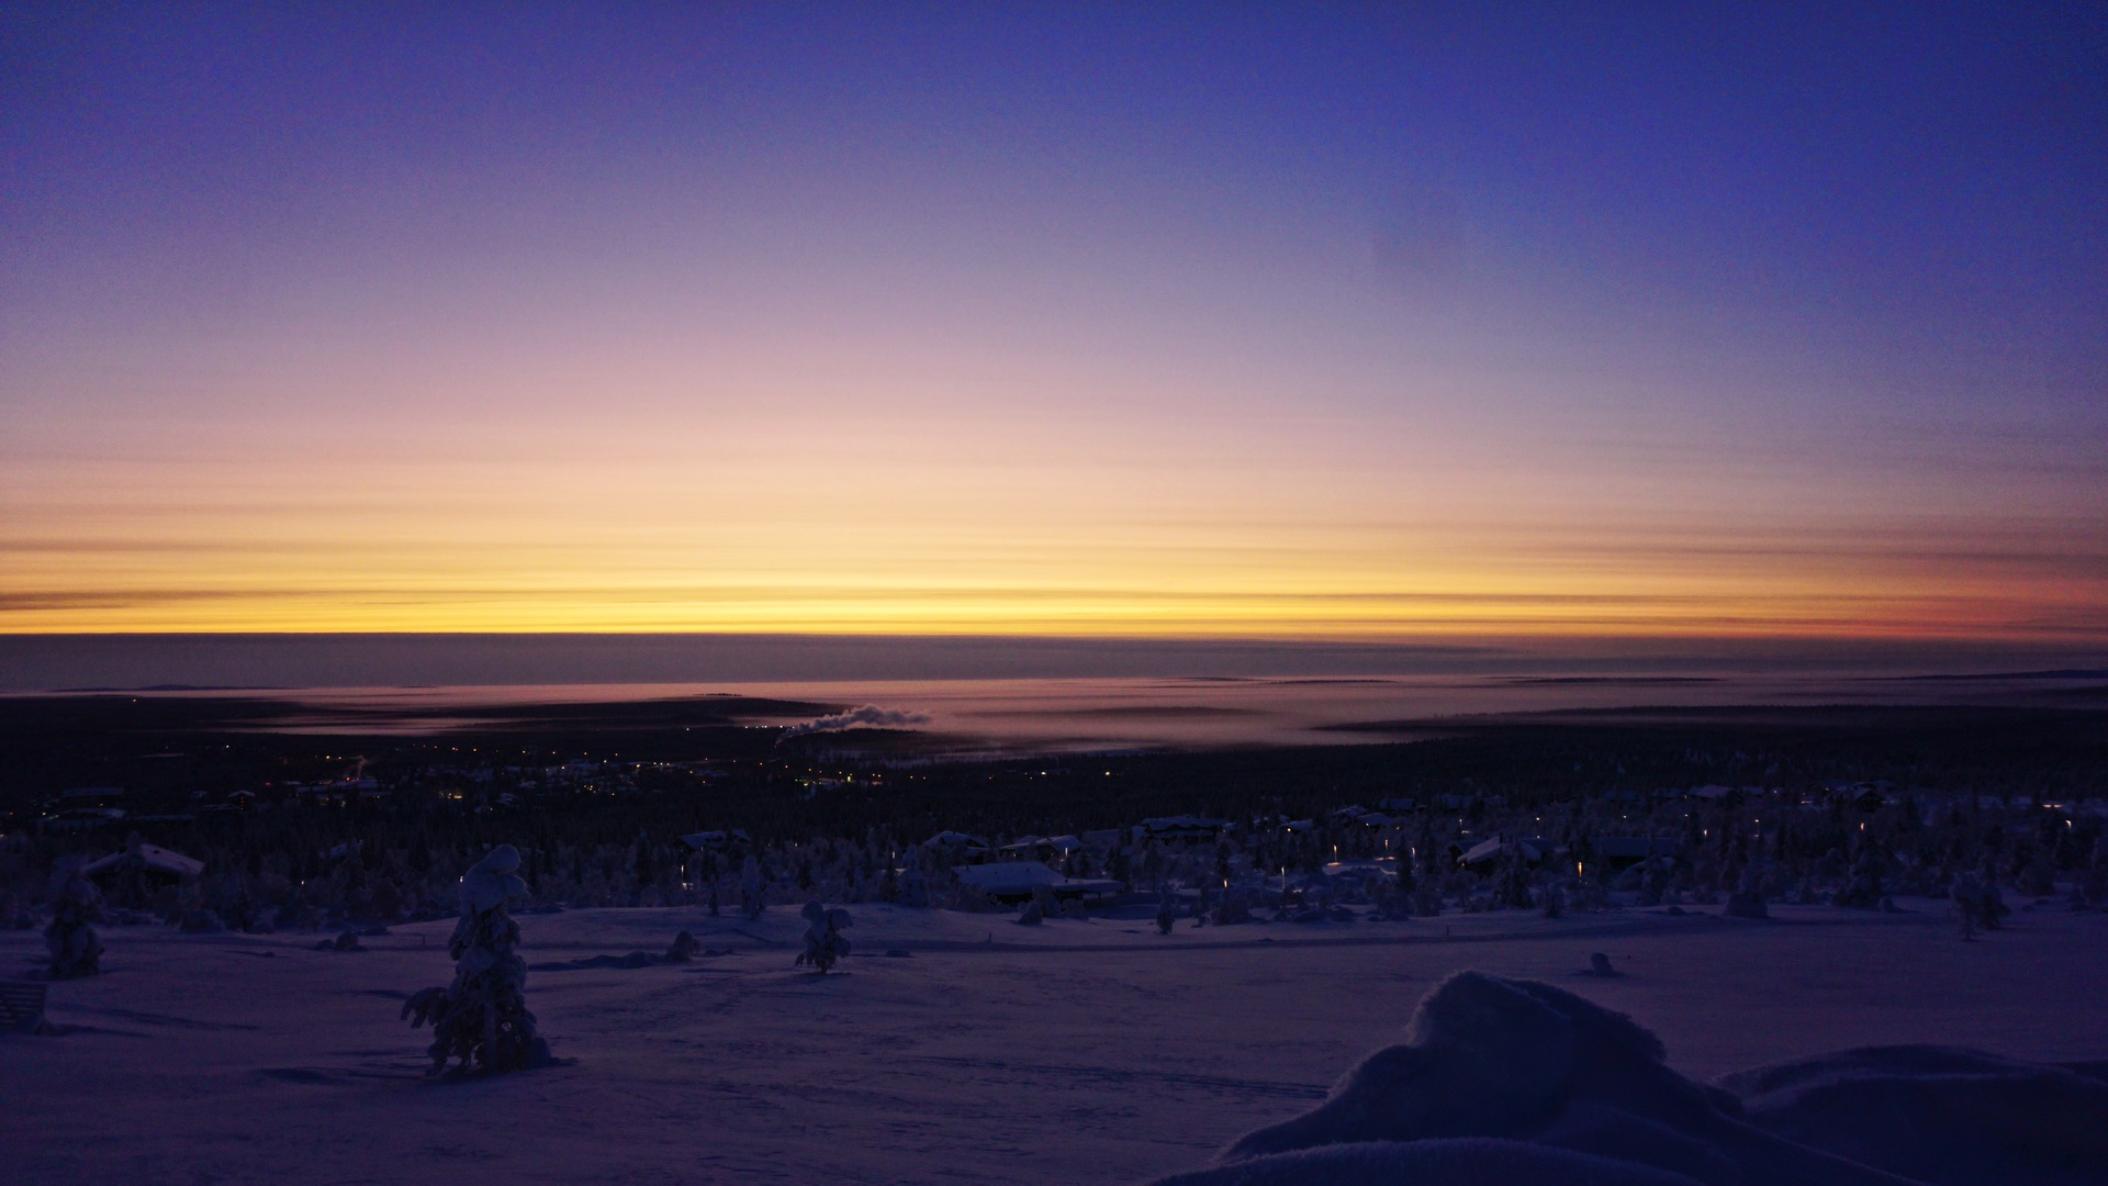
M 2089 639 L 2091 642 L 2091 639 Z M 2100 644 L 1922 637 L 1280 637 L 847 633 L 0 633 L 0 692 L 63 688 L 2104 669 Z

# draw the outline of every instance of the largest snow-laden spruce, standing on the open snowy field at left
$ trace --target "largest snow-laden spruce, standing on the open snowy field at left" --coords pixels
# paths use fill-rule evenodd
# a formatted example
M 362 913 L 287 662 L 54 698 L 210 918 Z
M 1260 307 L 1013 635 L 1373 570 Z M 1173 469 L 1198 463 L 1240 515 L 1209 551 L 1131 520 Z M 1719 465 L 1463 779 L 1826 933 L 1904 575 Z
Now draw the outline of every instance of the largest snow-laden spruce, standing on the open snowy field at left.
M 506 901 L 525 897 L 527 882 L 514 872 L 521 855 L 510 844 L 491 848 L 462 878 L 462 920 L 447 952 L 453 983 L 428 988 L 403 1002 L 409 1024 L 432 1026 L 432 1068 L 441 1074 L 460 1059 L 457 1074 L 527 1070 L 550 1061 L 548 1042 L 535 1036 L 527 1011 L 527 964 L 512 952 L 521 926 L 506 914 Z

